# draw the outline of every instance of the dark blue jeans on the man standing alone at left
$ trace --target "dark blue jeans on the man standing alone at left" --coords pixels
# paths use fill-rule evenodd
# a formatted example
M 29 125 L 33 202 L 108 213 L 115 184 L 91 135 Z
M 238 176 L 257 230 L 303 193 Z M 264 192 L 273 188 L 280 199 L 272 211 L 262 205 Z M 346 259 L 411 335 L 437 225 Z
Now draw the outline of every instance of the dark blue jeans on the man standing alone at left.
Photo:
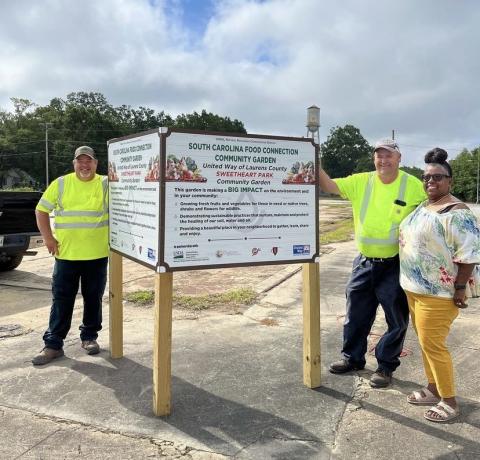
M 55 260 L 53 303 L 43 341 L 59 350 L 72 324 L 73 306 L 80 285 L 83 297 L 81 340 L 96 340 L 102 329 L 102 297 L 107 283 L 108 257 L 95 260 Z

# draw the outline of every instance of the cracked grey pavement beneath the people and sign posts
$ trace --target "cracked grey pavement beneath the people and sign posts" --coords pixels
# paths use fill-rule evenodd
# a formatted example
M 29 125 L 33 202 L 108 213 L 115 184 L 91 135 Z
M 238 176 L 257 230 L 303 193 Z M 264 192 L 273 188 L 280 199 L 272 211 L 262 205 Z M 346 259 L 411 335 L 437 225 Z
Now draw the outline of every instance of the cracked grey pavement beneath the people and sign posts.
M 33 367 L 50 307 L 31 289 L 30 308 L 0 318 L 0 458 L 480 458 L 479 299 L 461 311 L 449 339 L 462 415 L 433 424 L 423 418 L 425 408 L 406 403 L 425 383 L 411 329 L 393 385 L 368 384 L 375 342 L 385 330 L 382 314 L 367 368 L 327 371 L 340 356 L 344 286 L 355 255 L 352 242 L 333 246 L 320 258 L 322 385 L 302 384 L 302 278 L 290 272 L 283 282 L 272 278 L 275 287 L 241 313 L 174 320 L 168 417 L 152 413 L 151 308 L 125 306 L 125 356 L 113 360 L 106 349 L 108 307 L 102 352 L 88 356 L 78 339 L 79 305 L 66 356 Z M 2 286 L 0 302 L 11 289 Z

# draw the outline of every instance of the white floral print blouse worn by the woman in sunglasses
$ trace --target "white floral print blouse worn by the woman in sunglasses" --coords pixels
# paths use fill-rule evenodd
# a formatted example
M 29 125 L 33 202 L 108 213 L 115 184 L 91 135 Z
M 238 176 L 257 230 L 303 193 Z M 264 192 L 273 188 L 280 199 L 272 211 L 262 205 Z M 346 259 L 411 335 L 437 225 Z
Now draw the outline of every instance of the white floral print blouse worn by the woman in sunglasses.
M 480 263 L 480 228 L 470 209 L 443 214 L 423 202 L 400 225 L 400 284 L 416 294 L 453 298 L 457 263 Z M 475 267 L 467 296 L 480 292 L 480 269 Z

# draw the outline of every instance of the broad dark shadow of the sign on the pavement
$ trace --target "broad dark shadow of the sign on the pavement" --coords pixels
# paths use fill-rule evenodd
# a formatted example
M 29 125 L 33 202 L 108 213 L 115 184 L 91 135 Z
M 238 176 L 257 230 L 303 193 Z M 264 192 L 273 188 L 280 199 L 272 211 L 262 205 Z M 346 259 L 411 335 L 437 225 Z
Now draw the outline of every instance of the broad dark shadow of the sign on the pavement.
M 128 358 L 112 360 L 113 367 L 73 361 L 71 369 L 111 388 L 122 406 L 143 417 L 157 419 L 186 433 L 212 450 L 238 455 L 260 449 L 273 458 L 311 458 L 324 443 L 300 425 L 244 404 L 219 397 L 179 377 L 172 377 L 172 414 L 152 413 L 152 369 Z M 246 377 L 245 377 L 246 378 Z M 291 441 L 287 444 L 285 441 Z M 255 444 L 255 446 L 254 446 Z

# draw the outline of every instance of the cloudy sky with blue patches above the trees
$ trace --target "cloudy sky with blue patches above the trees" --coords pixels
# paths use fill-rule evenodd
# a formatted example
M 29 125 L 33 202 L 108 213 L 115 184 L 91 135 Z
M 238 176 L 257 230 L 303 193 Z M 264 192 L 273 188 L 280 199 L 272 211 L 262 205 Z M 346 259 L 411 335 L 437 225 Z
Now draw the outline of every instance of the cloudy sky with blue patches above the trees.
M 396 130 L 407 164 L 440 145 L 480 144 L 473 0 L 216 0 L 203 36 L 182 2 L 2 2 L 0 106 L 100 91 L 114 105 L 176 115 L 203 108 L 250 132 L 321 136 L 352 123 L 371 142 Z

